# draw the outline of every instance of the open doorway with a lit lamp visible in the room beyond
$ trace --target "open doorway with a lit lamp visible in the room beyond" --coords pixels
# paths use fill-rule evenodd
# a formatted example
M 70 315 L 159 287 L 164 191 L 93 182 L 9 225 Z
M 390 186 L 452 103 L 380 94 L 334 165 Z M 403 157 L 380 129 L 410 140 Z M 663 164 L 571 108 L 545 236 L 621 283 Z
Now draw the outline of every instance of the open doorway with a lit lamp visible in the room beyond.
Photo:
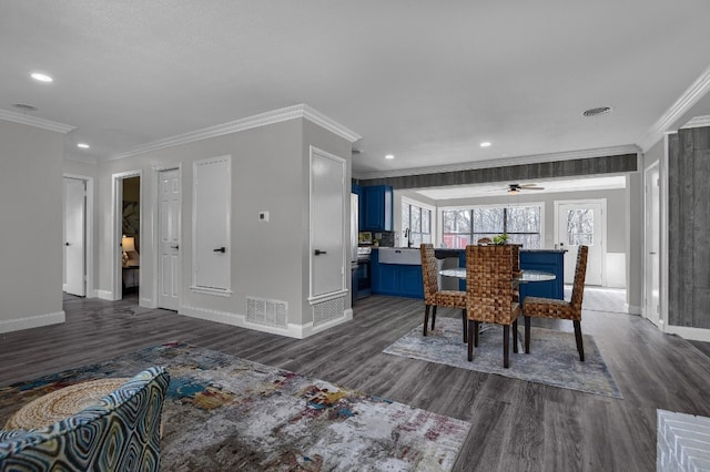
M 140 171 L 113 174 L 113 300 L 139 302 L 141 287 Z

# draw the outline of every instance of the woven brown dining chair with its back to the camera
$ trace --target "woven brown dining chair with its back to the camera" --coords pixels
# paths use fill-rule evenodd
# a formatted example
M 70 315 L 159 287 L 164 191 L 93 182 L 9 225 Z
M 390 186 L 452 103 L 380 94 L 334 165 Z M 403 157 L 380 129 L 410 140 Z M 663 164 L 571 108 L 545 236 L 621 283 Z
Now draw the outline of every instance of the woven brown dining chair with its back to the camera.
M 518 352 L 520 305 L 514 300 L 513 247 L 466 246 L 466 314 L 468 316 L 468 360 L 478 346 L 479 324 L 503 325 L 503 367 L 510 366 L 510 326 L 513 352 Z

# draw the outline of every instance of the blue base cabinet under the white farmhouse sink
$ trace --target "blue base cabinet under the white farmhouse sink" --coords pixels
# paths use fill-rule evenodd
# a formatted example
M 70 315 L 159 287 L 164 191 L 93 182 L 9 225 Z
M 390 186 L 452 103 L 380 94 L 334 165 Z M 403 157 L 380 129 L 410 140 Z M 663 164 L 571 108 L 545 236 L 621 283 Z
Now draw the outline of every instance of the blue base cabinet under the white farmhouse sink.
M 424 298 L 420 265 L 379 264 L 377 249 L 371 256 L 373 287 L 376 295 Z

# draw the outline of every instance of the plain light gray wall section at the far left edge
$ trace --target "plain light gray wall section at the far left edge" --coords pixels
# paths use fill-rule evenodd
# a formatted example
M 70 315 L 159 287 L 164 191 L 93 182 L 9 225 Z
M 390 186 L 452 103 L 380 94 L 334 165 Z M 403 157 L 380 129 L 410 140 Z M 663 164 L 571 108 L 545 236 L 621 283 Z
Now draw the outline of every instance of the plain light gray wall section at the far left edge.
M 63 143 L 0 120 L 0 332 L 64 321 Z

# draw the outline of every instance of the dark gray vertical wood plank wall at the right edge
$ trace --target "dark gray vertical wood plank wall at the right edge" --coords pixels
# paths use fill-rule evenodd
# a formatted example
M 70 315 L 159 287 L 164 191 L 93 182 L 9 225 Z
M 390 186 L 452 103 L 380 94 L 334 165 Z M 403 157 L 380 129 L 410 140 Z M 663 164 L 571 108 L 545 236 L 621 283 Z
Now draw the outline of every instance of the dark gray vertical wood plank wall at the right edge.
M 668 137 L 668 322 L 710 328 L 710 127 Z

